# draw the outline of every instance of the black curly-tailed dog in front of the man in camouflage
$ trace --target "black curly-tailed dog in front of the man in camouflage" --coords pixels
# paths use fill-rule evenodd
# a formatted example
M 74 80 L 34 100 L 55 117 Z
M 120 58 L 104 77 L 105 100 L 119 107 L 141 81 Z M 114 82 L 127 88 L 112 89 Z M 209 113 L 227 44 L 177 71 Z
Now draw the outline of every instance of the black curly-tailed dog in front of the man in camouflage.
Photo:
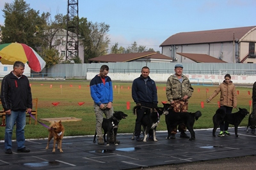
M 193 126 L 195 120 L 198 120 L 202 116 L 201 111 L 196 111 L 195 113 L 191 112 L 175 112 L 171 104 L 164 104 L 163 114 L 165 115 L 165 122 L 168 131 L 167 139 L 170 139 L 172 127 L 177 127 L 177 125 L 184 123 L 190 132 L 189 141 L 195 140 L 195 131 Z

